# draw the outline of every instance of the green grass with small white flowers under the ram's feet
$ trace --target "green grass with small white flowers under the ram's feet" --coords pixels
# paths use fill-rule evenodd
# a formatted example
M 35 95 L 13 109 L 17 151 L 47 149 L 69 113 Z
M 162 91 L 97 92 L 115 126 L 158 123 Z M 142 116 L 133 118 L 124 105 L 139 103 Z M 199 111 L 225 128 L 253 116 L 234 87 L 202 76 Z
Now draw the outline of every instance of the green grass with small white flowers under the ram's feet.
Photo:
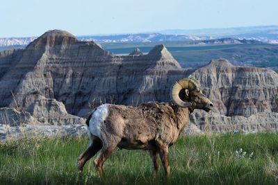
M 163 168 L 154 179 L 149 153 L 142 150 L 115 150 L 104 164 L 104 179 L 92 160 L 79 176 L 77 158 L 87 145 L 87 137 L 1 143 L 0 184 L 166 183 Z M 278 134 L 183 136 L 170 148 L 170 166 L 168 184 L 277 184 Z

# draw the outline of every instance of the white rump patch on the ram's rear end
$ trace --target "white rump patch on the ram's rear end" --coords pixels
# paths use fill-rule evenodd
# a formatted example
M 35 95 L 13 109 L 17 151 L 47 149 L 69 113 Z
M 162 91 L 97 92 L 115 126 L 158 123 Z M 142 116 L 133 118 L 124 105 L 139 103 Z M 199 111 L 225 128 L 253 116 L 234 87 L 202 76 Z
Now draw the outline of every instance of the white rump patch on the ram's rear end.
M 92 118 L 89 122 L 88 129 L 90 130 L 90 134 L 98 136 L 99 139 L 101 139 L 101 123 L 104 123 L 106 117 L 108 116 L 108 106 L 108 104 L 104 104 L 97 107 L 95 112 L 92 113 Z

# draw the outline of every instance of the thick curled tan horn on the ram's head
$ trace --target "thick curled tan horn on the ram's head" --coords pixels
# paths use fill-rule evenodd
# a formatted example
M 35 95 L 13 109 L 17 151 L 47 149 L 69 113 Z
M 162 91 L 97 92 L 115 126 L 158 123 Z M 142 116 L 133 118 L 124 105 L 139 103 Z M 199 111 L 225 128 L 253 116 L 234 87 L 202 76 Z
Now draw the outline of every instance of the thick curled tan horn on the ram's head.
M 183 78 L 183 79 L 175 82 L 172 87 L 172 91 L 171 91 L 172 101 L 176 105 L 179 105 L 181 107 L 190 107 L 192 105 L 192 103 L 190 103 L 188 100 L 182 100 L 180 98 L 180 94 L 182 94 L 181 92 L 183 91 L 183 92 L 185 92 L 183 94 L 188 96 L 188 94 L 191 90 L 199 89 L 199 88 L 200 88 L 200 84 L 197 80 L 195 80 L 193 78 Z M 186 97 L 184 97 L 184 98 L 186 98 Z

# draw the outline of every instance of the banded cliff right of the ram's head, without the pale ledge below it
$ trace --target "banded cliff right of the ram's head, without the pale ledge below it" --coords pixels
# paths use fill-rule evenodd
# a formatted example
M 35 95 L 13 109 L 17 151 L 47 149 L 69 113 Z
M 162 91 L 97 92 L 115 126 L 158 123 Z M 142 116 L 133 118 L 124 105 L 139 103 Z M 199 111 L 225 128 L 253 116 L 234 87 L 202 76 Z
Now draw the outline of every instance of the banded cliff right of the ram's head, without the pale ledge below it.
M 258 67 L 235 67 L 227 60 L 212 60 L 191 74 L 200 80 L 214 101 L 215 112 L 225 116 L 251 116 L 277 112 L 278 76 Z

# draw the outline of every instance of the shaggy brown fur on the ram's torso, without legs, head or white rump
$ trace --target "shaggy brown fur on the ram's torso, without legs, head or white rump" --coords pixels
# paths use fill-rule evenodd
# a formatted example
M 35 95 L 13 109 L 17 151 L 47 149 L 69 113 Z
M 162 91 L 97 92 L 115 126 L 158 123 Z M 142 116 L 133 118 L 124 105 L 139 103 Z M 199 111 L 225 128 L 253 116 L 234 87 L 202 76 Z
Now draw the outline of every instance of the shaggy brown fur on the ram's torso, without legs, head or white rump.
M 158 103 L 140 107 L 109 105 L 109 112 L 106 124 L 101 125 L 101 130 L 106 130 L 105 140 L 118 136 L 121 140 L 117 146 L 125 149 L 154 150 L 160 143 L 170 145 L 177 140 L 189 118 L 188 108 Z

